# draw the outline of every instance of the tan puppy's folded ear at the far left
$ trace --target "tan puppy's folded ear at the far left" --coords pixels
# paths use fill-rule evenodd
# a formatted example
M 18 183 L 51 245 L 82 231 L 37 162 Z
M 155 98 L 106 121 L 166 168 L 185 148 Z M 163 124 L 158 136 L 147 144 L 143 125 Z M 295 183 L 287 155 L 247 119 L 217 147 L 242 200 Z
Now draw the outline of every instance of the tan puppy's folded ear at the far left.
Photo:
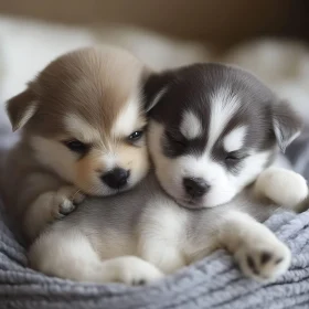
M 33 92 L 28 88 L 7 102 L 7 113 L 13 131 L 22 128 L 35 114 L 38 102 Z

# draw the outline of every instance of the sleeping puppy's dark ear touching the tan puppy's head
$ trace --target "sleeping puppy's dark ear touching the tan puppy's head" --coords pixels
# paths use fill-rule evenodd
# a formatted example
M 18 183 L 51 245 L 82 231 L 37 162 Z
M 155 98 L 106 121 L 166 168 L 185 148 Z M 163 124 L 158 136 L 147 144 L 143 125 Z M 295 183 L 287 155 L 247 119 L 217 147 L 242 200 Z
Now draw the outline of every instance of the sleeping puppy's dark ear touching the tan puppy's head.
M 167 93 L 169 83 L 172 81 L 172 72 L 152 73 L 143 85 L 145 108 L 149 113 Z

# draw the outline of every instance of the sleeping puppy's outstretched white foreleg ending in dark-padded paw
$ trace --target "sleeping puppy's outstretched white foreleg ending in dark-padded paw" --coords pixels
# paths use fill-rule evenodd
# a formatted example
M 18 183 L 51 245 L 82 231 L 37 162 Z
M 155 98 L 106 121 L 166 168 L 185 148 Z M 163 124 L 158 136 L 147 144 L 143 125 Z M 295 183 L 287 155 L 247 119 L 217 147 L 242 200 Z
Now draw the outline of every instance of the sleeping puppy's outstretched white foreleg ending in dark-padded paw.
M 237 260 L 243 273 L 257 280 L 275 280 L 290 265 L 290 251 L 265 225 L 231 211 L 217 225 L 219 242 Z

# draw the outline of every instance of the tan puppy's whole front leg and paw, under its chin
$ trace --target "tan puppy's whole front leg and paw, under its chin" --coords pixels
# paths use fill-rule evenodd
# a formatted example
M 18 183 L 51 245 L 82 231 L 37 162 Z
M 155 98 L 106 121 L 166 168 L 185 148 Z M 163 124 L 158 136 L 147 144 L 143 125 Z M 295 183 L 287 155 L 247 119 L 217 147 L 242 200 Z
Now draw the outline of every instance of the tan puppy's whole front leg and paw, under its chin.
M 39 195 L 25 213 L 24 230 L 28 237 L 34 239 L 46 224 L 71 213 L 84 199 L 83 193 L 70 185 Z

